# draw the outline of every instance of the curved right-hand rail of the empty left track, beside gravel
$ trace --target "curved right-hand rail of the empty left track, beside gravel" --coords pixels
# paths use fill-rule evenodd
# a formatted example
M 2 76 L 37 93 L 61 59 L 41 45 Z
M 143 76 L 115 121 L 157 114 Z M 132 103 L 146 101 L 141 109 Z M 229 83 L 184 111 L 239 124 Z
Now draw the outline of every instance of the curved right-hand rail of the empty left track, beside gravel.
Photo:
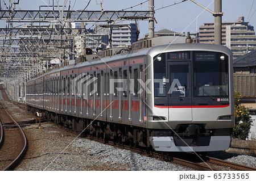
M 17 127 L 19 128 L 19 132 L 21 134 L 21 136 L 23 137 L 24 139 L 24 146 L 23 146 L 23 149 L 22 151 L 19 153 L 18 157 L 16 157 L 14 159 L 13 162 L 10 163 L 9 166 L 5 167 L 5 169 L 3 169 L 3 171 L 7 171 L 7 170 L 14 170 L 16 166 L 19 165 L 19 163 L 22 161 L 23 157 L 25 156 L 26 154 L 26 151 L 27 151 L 27 137 L 26 135 L 24 134 L 22 128 L 20 128 L 19 124 L 13 119 L 13 117 L 11 117 L 11 115 L 9 114 L 9 112 L 7 112 L 5 106 L 3 105 L 3 103 L 0 102 L 0 104 L 2 104 L 4 110 L 6 111 L 7 115 L 10 116 L 10 118 L 14 121 L 14 123 L 17 125 Z

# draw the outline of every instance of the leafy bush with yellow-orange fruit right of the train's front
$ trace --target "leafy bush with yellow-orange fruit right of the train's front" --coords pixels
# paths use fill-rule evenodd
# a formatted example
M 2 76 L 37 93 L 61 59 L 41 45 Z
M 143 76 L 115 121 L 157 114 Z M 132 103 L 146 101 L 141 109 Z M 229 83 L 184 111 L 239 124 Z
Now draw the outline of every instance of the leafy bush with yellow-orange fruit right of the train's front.
M 242 95 L 239 92 L 234 92 L 234 110 L 235 110 L 235 127 L 233 130 L 234 138 L 246 140 L 248 137 L 251 123 L 249 108 L 243 106 L 240 102 Z

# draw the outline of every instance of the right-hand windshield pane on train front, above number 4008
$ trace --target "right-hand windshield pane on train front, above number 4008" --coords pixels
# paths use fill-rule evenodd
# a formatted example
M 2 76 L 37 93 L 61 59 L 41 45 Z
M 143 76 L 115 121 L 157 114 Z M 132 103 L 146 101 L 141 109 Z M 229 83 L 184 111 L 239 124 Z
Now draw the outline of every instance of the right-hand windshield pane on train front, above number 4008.
M 200 51 L 193 60 L 194 96 L 228 96 L 228 56 Z

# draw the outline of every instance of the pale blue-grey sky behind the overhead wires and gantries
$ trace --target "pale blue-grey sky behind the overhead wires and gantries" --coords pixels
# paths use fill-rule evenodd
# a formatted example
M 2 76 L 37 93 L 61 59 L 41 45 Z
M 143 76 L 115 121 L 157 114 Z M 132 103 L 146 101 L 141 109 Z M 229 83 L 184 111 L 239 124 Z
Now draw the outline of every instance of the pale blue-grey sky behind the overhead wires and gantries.
M 3 2 L 9 2 L 9 0 L 0 0 L 1 5 Z M 13 0 L 18 2 L 18 0 Z M 59 0 L 59 5 L 63 5 L 65 0 Z M 196 0 L 205 7 L 214 11 L 214 0 Z M 222 0 L 222 22 L 234 22 L 239 16 L 245 17 L 245 22 L 249 22 L 254 28 L 256 28 L 256 1 L 255 0 Z M 32 2 L 32 3 L 31 3 Z M 51 6 L 53 0 L 20 0 L 20 5 L 16 5 L 16 9 L 20 10 L 39 10 L 39 6 Z M 100 2 L 104 10 L 122 10 L 131 6 L 138 5 L 129 8 L 127 10 L 148 10 L 148 2 L 146 0 L 67 0 L 66 6 L 69 3 L 73 7 L 73 10 L 82 10 L 85 8 L 88 2 L 87 10 L 93 11 L 101 10 Z M 144 3 L 143 3 L 144 2 Z M 180 3 L 181 2 L 181 3 Z M 54 0 L 56 5 L 56 0 Z M 142 3 L 142 5 L 141 5 Z M 176 5 L 175 5 L 176 3 Z M 166 7 L 173 5 L 170 7 Z M 163 8 L 165 7 L 165 8 Z M 52 7 L 51 7 L 52 8 Z M 44 10 L 50 8 L 45 7 Z M 157 10 L 159 9 L 159 10 Z M 204 23 L 214 22 L 214 16 L 210 12 L 204 10 L 191 1 L 182 2 L 182 0 L 155 0 L 155 31 L 162 29 L 168 29 L 175 32 L 197 32 L 199 26 L 203 26 Z M 2 23 L 0 24 L 2 27 Z M 86 26 L 86 28 L 92 25 Z M 139 21 L 139 30 L 141 31 L 140 37 L 148 33 L 148 22 L 146 20 Z

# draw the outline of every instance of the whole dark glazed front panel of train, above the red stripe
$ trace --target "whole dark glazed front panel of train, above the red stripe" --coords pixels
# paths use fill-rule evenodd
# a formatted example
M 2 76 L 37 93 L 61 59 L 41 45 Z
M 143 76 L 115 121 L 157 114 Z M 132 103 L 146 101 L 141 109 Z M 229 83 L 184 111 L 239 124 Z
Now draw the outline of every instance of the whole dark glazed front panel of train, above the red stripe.
M 186 51 L 154 57 L 156 106 L 229 104 L 228 56 L 220 52 Z

